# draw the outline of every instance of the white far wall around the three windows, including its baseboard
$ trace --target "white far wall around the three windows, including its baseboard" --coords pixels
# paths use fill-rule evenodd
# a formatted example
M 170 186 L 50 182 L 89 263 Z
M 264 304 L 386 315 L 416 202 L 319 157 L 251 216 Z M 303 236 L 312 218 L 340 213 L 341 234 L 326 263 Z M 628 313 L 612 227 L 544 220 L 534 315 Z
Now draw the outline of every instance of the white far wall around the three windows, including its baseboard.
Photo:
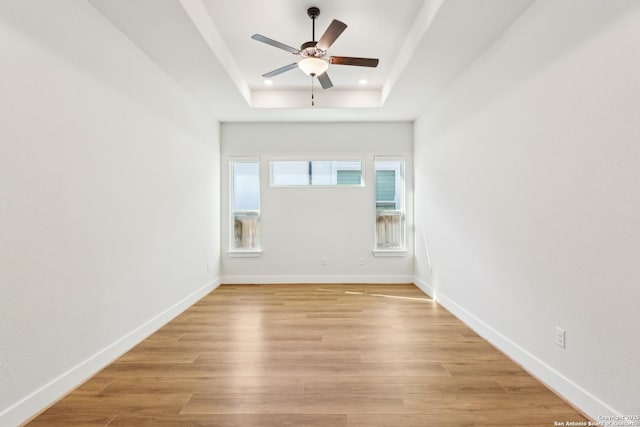
M 413 278 L 411 123 L 225 123 L 221 127 L 223 280 L 227 283 L 389 282 Z M 374 155 L 406 157 L 408 251 L 372 255 Z M 228 161 L 261 159 L 260 258 L 230 258 Z M 271 188 L 270 160 L 365 161 L 364 187 Z M 326 265 L 321 259 L 326 258 Z M 360 263 L 364 259 L 364 264 Z

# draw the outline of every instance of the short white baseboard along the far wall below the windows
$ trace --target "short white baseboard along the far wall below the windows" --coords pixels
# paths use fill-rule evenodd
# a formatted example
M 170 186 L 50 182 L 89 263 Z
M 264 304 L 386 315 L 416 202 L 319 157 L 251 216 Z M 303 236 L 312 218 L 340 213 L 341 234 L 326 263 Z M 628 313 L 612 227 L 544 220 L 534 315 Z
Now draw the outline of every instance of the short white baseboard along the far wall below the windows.
M 230 285 L 267 285 L 267 284 L 292 284 L 292 283 L 413 283 L 410 275 L 265 275 L 265 276 L 223 276 L 222 283 Z

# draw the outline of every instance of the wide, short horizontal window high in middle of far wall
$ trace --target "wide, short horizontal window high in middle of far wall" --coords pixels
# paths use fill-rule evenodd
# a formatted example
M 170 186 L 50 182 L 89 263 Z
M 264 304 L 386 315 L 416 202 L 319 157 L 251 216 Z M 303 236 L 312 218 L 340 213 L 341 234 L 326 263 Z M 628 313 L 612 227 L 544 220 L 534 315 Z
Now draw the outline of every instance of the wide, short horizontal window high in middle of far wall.
M 361 186 L 360 160 L 278 160 L 271 162 L 271 185 Z

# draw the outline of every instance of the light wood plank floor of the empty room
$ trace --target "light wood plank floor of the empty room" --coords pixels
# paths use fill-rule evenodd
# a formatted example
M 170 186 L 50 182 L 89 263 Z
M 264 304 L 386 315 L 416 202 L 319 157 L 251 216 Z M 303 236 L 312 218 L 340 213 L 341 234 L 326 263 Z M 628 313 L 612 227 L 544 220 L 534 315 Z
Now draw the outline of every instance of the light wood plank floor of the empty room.
M 29 425 L 584 420 L 413 285 L 223 285 Z

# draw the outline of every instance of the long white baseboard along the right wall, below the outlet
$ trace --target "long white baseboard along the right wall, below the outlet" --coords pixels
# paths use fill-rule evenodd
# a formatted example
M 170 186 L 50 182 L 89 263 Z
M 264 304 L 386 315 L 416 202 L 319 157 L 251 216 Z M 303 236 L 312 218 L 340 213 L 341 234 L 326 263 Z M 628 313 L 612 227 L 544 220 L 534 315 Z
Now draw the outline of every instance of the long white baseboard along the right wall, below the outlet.
M 588 417 L 598 420 L 598 416 L 601 415 L 622 415 L 616 412 L 611 406 L 607 405 L 605 402 L 553 369 L 543 360 L 537 358 L 511 339 L 501 334 L 499 331 L 493 329 L 464 307 L 449 299 L 446 295 L 443 295 L 440 292 L 435 292 L 433 287 L 425 280 L 415 277 L 414 283 L 418 288 L 441 304 L 444 308 L 449 310 L 458 319 L 462 320 L 478 335 L 489 341 L 493 346 L 498 348 L 516 363 L 520 364 L 523 369 L 555 391 L 569 404 L 573 405 L 577 410 L 583 412 Z

